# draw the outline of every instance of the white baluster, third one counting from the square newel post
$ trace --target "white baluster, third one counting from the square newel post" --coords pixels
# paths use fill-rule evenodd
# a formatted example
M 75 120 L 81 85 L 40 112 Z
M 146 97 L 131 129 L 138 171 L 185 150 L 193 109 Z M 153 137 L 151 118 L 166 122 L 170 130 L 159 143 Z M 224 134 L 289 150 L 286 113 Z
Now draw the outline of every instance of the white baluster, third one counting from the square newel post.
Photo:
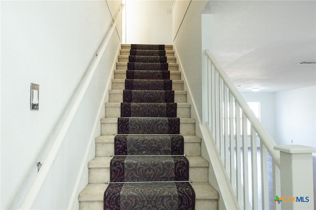
M 257 166 L 257 135 L 251 126 L 250 130 L 251 142 L 251 184 L 252 184 L 252 209 L 258 210 L 258 166 Z

